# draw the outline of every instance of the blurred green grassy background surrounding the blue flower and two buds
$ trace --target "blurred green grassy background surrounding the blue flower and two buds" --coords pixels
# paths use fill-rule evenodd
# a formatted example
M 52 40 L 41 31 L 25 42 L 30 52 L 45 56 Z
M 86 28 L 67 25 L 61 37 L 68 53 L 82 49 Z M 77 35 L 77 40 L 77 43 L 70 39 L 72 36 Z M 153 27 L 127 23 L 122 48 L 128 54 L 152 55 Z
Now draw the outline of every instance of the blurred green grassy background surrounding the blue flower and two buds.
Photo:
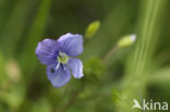
M 0 0 L 0 112 L 132 112 L 133 99 L 170 102 L 169 0 Z M 85 76 L 53 88 L 35 48 L 84 35 Z M 120 38 L 136 34 L 131 47 Z M 170 112 L 170 111 L 169 111 Z

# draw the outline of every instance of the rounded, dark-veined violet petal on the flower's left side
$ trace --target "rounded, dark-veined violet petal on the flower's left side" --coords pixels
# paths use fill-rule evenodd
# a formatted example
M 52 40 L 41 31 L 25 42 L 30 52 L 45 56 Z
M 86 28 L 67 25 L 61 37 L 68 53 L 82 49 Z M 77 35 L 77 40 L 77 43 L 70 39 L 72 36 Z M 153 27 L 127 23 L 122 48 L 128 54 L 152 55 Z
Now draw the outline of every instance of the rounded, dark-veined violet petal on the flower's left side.
M 52 39 L 44 39 L 38 42 L 36 55 L 38 60 L 46 65 L 54 63 L 59 53 L 59 43 Z

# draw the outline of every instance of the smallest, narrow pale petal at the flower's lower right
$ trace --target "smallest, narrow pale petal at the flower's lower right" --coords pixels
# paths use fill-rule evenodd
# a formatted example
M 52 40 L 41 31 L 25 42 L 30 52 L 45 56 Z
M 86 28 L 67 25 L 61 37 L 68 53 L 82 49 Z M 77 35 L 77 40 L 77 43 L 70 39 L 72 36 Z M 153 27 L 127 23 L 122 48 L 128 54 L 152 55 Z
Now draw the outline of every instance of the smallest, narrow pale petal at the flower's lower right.
M 83 63 L 80 59 L 73 58 L 69 60 L 69 67 L 75 78 L 82 78 L 83 74 Z

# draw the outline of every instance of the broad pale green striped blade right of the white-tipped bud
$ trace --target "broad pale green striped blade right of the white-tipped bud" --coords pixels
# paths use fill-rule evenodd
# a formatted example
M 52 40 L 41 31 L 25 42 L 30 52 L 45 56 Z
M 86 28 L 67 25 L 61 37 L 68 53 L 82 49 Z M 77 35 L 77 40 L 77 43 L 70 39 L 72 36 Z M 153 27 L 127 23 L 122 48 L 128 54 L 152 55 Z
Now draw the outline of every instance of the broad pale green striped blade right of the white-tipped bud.
M 162 11 L 167 7 L 168 1 L 149 0 L 143 1 L 141 7 L 142 16 L 139 16 L 139 24 L 137 30 L 137 43 L 134 53 L 130 57 L 127 63 L 126 78 L 123 85 L 124 89 L 122 97 L 125 102 L 122 111 L 131 111 L 133 105 L 133 99 L 144 99 L 145 88 L 148 78 L 154 76 L 155 64 L 153 64 L 153 58 L 156 50 L 157 40 L 160 38 L 160 18 L 162 17 Z M 151 76 L 150 76 L 151 75 Z

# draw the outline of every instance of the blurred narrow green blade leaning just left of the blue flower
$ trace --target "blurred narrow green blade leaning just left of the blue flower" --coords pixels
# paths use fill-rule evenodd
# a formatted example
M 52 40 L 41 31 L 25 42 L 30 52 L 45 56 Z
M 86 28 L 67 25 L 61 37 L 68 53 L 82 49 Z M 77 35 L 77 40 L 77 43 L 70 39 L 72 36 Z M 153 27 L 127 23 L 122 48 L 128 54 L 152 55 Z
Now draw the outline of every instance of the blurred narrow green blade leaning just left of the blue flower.
M 50 2 L 51 0 L 41 1 L 35 21 L 31 27 L 28 38 L 25 40 L 25 46 L 23 47 L 23 52 L 21 54 L 21 65 L 23 70 L 25 70 L 25 75 L 31 75 L 35 69 L 37 62 L 35 48 L 44 36 Z

